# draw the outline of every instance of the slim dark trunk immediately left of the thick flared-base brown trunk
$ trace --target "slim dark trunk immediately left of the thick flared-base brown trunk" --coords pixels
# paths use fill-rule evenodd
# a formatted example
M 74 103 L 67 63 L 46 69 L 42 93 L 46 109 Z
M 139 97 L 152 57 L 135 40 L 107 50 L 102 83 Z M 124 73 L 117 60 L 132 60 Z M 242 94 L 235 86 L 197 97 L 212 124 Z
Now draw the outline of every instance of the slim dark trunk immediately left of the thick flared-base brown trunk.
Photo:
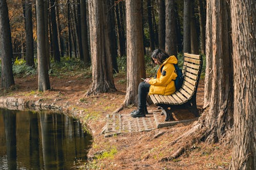
M 91 59 L 89 54 L 85 0 L 80 0 L 80 8 L 81 8 L 81 38 L 82 38 L 83 61 L 84 61 L 84 64 L 88 65 Z

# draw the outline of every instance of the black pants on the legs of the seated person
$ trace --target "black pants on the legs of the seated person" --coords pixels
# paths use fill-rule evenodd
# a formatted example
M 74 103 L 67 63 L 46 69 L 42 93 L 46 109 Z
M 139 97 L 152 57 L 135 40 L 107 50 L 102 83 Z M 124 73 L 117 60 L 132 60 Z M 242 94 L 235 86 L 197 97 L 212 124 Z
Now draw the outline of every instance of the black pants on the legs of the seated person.
M 139 109 L 144 109 L 146 107 L 146 96 L 148 91 L 150 91 L 150 84 L 146 82 L 140 82 L 138 91 Z

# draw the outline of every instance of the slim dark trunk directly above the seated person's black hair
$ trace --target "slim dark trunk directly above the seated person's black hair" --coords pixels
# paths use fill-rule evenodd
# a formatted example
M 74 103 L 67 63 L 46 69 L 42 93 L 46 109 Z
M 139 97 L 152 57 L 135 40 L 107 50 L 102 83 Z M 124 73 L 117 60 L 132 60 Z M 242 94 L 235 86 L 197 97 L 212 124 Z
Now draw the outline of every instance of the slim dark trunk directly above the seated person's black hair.
M 165 4 L 163 0 L 158 0 L 159 8 L 158 8 L 158 43 L 159 48 L 164 50 L 165 48 Z

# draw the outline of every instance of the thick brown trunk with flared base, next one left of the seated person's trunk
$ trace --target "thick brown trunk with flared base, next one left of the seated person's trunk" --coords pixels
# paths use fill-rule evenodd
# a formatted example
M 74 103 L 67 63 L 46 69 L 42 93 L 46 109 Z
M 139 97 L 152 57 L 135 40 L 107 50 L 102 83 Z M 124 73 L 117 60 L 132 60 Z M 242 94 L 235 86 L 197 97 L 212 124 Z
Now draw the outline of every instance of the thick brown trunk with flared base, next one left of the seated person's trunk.
M 87 95 L 116 90 L 110 56 L 109 23 L 106 22 L 106 14 L 104 1 L 89 1 L 92 84 Z

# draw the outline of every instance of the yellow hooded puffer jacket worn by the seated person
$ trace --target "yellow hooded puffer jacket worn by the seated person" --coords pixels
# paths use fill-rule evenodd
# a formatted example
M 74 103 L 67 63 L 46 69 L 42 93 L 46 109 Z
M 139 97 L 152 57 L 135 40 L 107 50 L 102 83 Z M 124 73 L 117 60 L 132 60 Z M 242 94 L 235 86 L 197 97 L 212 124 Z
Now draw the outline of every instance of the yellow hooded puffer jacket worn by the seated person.
M 174 64 L 177 64 L 178 60 L 175 56 L 170 56 L 167 58 L 158 68 L 156 79 L 151 79 L 149 83 L 150 91 L 148 95 L 151 94 L 161 94 L 170 95 L 175 92 L 174 80 L 177 74 L 174 72 Z M 162 68 L 162 71 L 161 71 Z

